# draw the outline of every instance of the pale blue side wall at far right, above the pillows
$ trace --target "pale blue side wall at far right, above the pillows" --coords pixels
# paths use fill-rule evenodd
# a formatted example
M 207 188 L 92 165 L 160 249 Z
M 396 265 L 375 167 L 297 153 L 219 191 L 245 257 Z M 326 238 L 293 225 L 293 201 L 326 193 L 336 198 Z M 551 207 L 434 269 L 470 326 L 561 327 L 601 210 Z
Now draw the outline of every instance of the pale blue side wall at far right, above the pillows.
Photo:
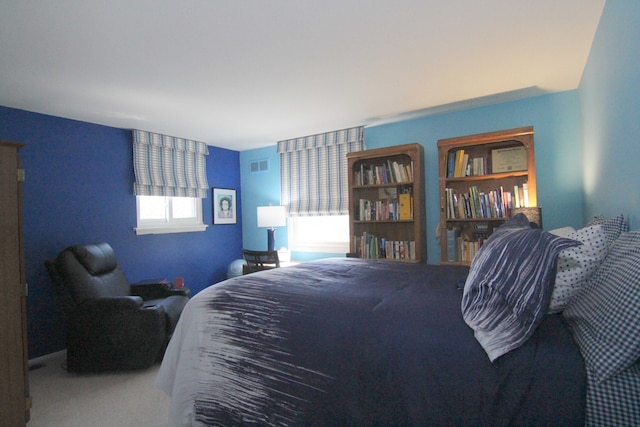
M 640 228 L 640 2 L 607 1 L 580 82 L 585 219 Z

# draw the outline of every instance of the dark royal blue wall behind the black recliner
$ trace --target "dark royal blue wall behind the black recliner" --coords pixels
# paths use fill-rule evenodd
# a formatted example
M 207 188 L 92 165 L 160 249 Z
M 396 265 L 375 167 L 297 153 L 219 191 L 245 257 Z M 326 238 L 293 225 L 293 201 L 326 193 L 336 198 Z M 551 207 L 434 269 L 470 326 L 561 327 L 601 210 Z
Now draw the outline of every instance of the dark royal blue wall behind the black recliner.
M 62 316 L 44 261 L 65 247 L 109 242 L 131 282 L 182 276 L 192 293 L 226 278 L 241 255 L 241 212 L 235 225 L 211 225 L 211 193 L 203 201 L 204 232 L 137 236 L 129 130 L 0 107 L 0 139 L 21 142 L 29 358 L 65 348 Z M 236 188 L 239 152 L 209 147 L 211 187 Z M 241 209 L 241 208 L 240 208 Z

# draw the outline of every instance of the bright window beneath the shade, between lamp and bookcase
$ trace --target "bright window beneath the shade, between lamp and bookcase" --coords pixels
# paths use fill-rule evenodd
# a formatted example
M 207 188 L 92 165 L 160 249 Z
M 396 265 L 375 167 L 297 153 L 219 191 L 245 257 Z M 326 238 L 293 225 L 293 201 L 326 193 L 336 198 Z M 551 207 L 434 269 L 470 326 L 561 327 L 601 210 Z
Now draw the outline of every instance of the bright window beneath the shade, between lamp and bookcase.
M 290 217 L 287 233 L 290 251 L 349 252 L 349 215 Z

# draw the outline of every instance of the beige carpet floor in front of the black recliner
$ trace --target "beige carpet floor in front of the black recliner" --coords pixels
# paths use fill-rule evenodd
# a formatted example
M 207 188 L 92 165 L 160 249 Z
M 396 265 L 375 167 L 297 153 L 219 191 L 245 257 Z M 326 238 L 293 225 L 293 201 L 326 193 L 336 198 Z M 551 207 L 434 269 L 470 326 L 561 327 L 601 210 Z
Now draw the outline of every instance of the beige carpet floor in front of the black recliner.
M 32 361 L 27 427 L 159 427 L 169 398 L 153 383 L 160 365 L 133 372 L 78 375 L 64 368 L 65 353 Z M 35 368 L 36 365 L 42 365 Z

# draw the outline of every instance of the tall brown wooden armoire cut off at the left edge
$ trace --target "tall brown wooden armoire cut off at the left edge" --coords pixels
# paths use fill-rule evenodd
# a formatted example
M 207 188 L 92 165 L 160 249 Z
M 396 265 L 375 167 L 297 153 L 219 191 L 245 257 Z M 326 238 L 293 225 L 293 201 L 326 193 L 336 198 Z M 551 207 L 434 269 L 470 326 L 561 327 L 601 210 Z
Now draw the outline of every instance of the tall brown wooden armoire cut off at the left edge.
M 22 144 L 0 141 L 0 423 L 26 425 L 29 397 Z

